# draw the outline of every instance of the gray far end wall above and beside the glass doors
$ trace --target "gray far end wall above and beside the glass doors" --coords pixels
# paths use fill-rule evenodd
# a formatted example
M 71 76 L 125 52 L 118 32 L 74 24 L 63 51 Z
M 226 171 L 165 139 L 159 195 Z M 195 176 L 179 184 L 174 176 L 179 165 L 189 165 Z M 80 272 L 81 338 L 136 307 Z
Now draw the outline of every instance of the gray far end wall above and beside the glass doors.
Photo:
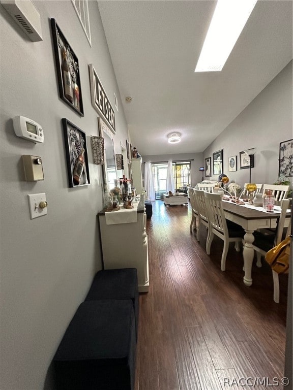
M 174 148 L 176 145 L 174 146 Z M 202 153 L 185 153 L 185 154 L 160 154 L 152 156 L 142 156 L 142 163 L 151 161 L 152 163 L 159 163 L 160 161 L 182 161 L 191 160 L 191 186 L 195 186 L 202 180 L 202 173 L 199 172 L 199 167 L 203 167 Z M 144 173 L 144 166 L 142 166 L 142 172 Z

